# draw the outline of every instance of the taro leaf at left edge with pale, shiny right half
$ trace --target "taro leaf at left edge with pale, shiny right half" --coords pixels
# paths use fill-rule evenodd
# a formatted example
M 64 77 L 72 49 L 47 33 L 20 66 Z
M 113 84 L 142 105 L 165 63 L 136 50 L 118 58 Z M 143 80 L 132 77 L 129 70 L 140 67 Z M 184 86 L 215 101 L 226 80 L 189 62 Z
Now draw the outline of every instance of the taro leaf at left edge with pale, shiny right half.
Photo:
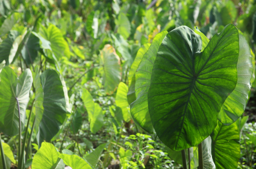
M 10 67 L 4 67 L 0 79 L 0 130 L 6 135 L 17 135 L 19 133 L 19 111 L 16 98 L 19 101 L 20 120 L 23 129 L 33 83 L 32 73 L 26 69 L 17 79 Z

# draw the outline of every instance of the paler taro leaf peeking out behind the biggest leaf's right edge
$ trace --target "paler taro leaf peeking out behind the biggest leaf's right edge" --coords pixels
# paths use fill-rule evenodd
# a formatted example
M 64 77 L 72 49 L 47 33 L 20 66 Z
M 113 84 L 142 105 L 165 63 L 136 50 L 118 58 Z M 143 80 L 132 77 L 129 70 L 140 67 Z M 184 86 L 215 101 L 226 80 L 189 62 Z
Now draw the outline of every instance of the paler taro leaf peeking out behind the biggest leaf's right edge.
M 251 49 L 242 32 L 239 31 L 239 59 L 237 62 L 237 85 L 220 109 L 218 119 L 225 125 L 236 122 L 245 111 L 251 92 L 250 81 L 254 67 Z

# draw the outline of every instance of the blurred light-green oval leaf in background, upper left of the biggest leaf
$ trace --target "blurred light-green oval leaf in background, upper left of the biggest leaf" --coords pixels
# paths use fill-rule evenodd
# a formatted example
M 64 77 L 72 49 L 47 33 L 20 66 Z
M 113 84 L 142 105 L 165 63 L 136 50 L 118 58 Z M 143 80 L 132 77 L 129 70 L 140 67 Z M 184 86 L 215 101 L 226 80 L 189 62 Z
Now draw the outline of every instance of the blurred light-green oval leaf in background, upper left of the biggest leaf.
M 122 35 L 123 38 L 127 39 L 131 34 L 131 24 L 125 13 L 119 13 L 118 19 L 116 20 L 116 25 L 117 33 Z

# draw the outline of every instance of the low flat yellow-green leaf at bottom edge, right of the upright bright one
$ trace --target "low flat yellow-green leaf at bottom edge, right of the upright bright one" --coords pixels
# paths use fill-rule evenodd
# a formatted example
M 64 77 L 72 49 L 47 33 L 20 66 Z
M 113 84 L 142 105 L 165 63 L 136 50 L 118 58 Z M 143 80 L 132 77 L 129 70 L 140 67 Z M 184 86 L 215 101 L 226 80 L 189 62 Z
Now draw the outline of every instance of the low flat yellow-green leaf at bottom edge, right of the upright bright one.
M 60 154 L 59 158 L 63 159 L 64 164 L 70 166 L 72 169 L 91 169 L 92 167 L 78 155 Z

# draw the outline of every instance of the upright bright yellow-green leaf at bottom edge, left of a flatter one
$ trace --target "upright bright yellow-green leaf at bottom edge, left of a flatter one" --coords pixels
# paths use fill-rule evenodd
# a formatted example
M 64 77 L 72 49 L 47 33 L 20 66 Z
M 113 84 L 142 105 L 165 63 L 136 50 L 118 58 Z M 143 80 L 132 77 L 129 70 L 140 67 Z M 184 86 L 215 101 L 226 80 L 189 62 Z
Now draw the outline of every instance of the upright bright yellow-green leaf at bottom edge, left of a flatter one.
M 32 161 L 33 169 L 46 169 L 55 167 L 58 162 L 58 152 L 51 143 L 43 142 L 40 149 L 34 155 Z

